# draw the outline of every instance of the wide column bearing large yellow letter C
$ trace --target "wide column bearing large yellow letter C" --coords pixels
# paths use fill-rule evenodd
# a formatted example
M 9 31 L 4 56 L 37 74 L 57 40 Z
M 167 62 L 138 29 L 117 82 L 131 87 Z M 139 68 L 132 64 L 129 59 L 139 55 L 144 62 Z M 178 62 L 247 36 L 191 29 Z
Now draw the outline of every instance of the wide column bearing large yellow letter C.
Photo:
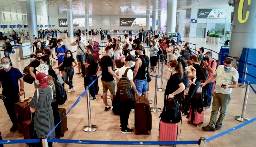
M 234 1 L 233 27 L 230 38 L 229 56 L 240 57 L 243 47 L 256 48 L 255 7 L 255 0 Z M 234 65 L 236 65 L 236 63 L 234 63 Z

